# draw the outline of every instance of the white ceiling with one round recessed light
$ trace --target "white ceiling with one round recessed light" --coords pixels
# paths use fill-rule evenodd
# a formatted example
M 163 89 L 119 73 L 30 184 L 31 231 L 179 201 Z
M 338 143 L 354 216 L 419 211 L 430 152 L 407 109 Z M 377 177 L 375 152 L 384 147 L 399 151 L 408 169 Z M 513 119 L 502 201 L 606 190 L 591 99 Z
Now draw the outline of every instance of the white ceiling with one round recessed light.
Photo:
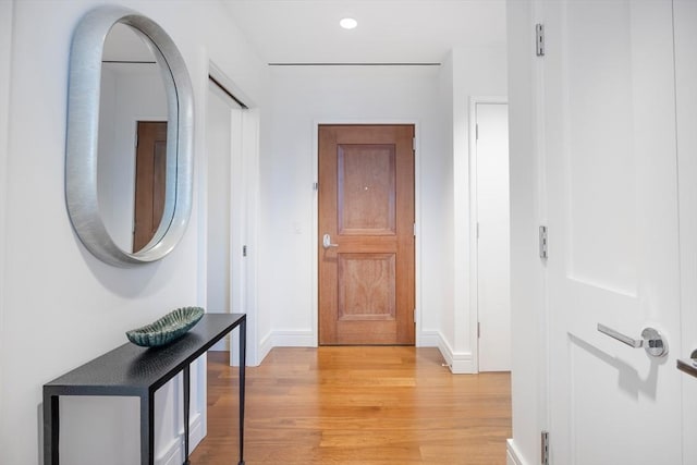
M 223 0 L 267 63 L 439 63 L 505 46 L 504 0 Z M 358 27 L 342 29 L 351 16 Z

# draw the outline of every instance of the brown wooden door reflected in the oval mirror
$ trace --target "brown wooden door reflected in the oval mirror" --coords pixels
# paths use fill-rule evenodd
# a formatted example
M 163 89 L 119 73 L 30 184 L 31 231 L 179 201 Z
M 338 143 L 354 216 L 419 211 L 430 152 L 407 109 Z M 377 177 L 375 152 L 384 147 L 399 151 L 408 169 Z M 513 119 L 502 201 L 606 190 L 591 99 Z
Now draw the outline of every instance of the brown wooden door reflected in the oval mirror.
M 145 247 L 160 225 L 164 211 L 166 171 L 167 122 L 138 121 L 133 252 Z

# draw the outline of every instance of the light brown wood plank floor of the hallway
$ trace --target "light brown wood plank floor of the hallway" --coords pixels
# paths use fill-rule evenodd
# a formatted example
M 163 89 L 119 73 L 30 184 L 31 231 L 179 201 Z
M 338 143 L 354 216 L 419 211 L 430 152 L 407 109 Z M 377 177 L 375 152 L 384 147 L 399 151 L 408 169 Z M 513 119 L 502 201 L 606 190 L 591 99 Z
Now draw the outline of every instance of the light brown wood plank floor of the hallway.
M 246 465 L 505 464 L 510 374 L 452 375 L 437 348 L 274 348 L 247 368 Z M 237 369 L 208 355 L 208 436 L 192 465 L 237 457 Z

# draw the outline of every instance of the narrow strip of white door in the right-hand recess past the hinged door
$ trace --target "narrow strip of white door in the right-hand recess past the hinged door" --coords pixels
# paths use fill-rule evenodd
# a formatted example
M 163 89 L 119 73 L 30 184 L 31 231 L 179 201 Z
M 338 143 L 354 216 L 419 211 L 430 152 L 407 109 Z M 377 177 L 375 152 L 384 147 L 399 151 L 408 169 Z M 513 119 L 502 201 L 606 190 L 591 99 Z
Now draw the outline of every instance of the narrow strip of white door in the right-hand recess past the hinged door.
M 509 106 L 476 101 L 479 371 L 511 370 Z

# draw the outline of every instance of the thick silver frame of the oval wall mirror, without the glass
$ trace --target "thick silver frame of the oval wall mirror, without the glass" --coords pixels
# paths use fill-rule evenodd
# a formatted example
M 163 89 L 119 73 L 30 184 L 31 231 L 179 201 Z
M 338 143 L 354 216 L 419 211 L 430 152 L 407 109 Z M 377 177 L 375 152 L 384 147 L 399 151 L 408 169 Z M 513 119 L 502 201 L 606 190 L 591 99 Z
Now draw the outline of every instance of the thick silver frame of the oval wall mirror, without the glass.
M 117 23 L 145 35 L 164 71 L 169 69 L 163 73 L 170 122 L 164 212 L 152 240 L 135 253 L 123 250 L 112 240 L 99 212 L 97 195 L 101 57 L 107 35 Z M 113 266 L 130 267 L 163 258 L 184 235 L 193 201 L 194 98 L 184 59 L 154 21 L 122 7 L 99 7 L 88 12 L 75 29 L 69 83 L 65 201 L 75 232 L 93 255 Z

